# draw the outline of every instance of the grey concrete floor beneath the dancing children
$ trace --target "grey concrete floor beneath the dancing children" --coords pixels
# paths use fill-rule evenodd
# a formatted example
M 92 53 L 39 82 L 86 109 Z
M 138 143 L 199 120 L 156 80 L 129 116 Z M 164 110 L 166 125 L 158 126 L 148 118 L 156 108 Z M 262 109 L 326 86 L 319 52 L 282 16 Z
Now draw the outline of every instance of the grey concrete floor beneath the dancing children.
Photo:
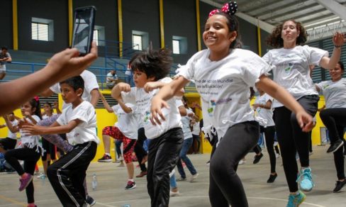
M 311 167 L 313 169 L 316 186 L 313 191 L 306 193 L 306 202 L 301 206 L 346 206 L 346 187 L 338 194 L 333 193 L 336 180 L 336 172 L 333 155 L 325 153 L 327 146 L 316 146 L 311 155 Z M 279 176 L 273 184 L 267 184 L 269 177 L 269 156 L 264 152 L 264 157 L 258 164 L 252 164 L 254 153 L 247 155 L 247 163 L 238 168 L 238 174 L 242 179 L 250 206 L 286 206 L 288 187 L 281 167 L 281 159 L 277 160 L 277 172 Z M 170 199 L 169 206 L 192 207 L 210 206 L 208 201 L 208 161 L 209 155 L 189 155 L 199 172 L 196 182 L 178 182 L 179 197 Z M 135 179 L 137 188 L 125 191 L 126 169 L 117 167 L 117 163 L 91 163 L 87 172 L 89 194 L 96 199 L 96 207 L 118 206 L 129 204 L 130 207 L 150 206 L 150 198 L 146 191 L 145 177 Z M 41 169 L 42 170 L 42 169 Z M 187 169 L 186 169 L 187 170 Z M 140 172 L 135 169 L 135 174 Z M 91 177 L 96 173 L 98 186 L 96 191 L 91 189 Z M 186 172 L 188 173 L 188 172 Z M 176 173 L 178 177 L 178 173 Z M 39 207 L 61 206 L 55 196 L 48 180 L 35 178 L 35 203 Z M 26 206 L 26 195 L 18 191 L 17 174 L 0 174 L 0 207 Z

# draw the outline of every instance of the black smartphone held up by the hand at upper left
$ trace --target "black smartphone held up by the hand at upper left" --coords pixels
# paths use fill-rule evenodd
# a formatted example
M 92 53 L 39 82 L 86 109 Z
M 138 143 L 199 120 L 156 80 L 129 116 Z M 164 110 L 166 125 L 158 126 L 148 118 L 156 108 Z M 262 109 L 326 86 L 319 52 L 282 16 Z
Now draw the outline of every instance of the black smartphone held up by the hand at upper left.
M 80 7 L 74 10 L 72 46 L 79 50 L 79 56 L 90 52 L 95 25 L 95 6 Z

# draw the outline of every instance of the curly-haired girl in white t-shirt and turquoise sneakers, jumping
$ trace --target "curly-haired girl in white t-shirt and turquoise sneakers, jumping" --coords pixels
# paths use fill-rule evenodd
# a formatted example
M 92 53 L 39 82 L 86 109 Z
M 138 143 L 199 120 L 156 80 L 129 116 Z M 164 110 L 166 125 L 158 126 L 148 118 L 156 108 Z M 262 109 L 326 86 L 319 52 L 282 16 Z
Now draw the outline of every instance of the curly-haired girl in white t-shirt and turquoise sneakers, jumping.
M 340 59 L 341 46 L 344 44 L 343 35 L 335 33 L 333 55 L 329 58 L 328 51 L 303 45 L 306 42 L 306 30 L 301 23 L 289 20 L 274 28 L 267 43 L 275 49 L 269 50 L 262 59 L 272 65 L 274 82 L 283 86 L 294 96 L 301 106 L 315 116 L 319 100 L 318 92 L 310 77 L 310 66 L 320 65 L 325 69 L 334 68 Z M 302 46 L 303 45 L 303 46 Z M 308 133 L 299 128 L 294 113 L 284 107 L 281 101 L 274 101 L 274 122 L 277 138 L 281 148 L 286 180 L 292 196 L 300 196 L 301 202 L 305 195 L 298 191 L 311 191 L 314 184 L 309 167 L 309 137 Z M 296 152 L 300 157 L 301 170 L 296 164 Z M 297 179 L 297 172 L 300 176 Z M 290 199 L 294 199 L 293 197 Z

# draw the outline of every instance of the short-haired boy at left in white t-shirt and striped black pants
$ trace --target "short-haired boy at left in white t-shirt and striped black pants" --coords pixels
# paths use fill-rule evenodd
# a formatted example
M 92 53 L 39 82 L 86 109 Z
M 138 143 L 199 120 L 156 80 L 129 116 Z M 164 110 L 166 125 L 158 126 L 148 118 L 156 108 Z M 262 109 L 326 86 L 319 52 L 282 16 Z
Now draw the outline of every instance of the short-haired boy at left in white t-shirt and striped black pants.
M 48 167 L 47 176 L 64 206 L 83 206 L 86 205 L 83 186 L 86 169 L 94 159 L 99 144 L 96 112 L 94 106 L 82 99 L 82 77 L 66 79 L 60 82 L 60 88 L 62 99 L 70 105 L 63 109 L 57 121 L 49 127 L 27 125 L 24 130 L 32 135 L 67 133 L 67 140 L 73 149 Z

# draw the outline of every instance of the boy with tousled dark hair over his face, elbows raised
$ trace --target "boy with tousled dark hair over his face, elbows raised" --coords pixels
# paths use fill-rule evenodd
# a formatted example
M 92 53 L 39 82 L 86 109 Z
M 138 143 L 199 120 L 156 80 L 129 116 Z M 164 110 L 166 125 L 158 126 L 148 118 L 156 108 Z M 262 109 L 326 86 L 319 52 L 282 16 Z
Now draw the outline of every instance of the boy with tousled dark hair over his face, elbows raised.
M 162 125 L 150 123 L 150 101 L 157 91 L 172 82 L 166 77 L 172 65 L 172 57 L 167 49 L 151 48 L 136 54 L 131 60 L 135 87 L 119 83 L 112 89 L 114 99 L 123 99 L 137 106 L 140 122 L 145 128 L 145 135 L 150 139 L 147 158 L 147 191 L 151 198 L 151 206 L 168 206 L 169 173 L 177 164 L 182 148 L 184 135 L 176 100 L 169 99 L 169 109 L 164 111 L 166 121 Z M 180 94 L 179 94 L 180 92 Z M 182 96 L 182 91 L 177 94 Z

